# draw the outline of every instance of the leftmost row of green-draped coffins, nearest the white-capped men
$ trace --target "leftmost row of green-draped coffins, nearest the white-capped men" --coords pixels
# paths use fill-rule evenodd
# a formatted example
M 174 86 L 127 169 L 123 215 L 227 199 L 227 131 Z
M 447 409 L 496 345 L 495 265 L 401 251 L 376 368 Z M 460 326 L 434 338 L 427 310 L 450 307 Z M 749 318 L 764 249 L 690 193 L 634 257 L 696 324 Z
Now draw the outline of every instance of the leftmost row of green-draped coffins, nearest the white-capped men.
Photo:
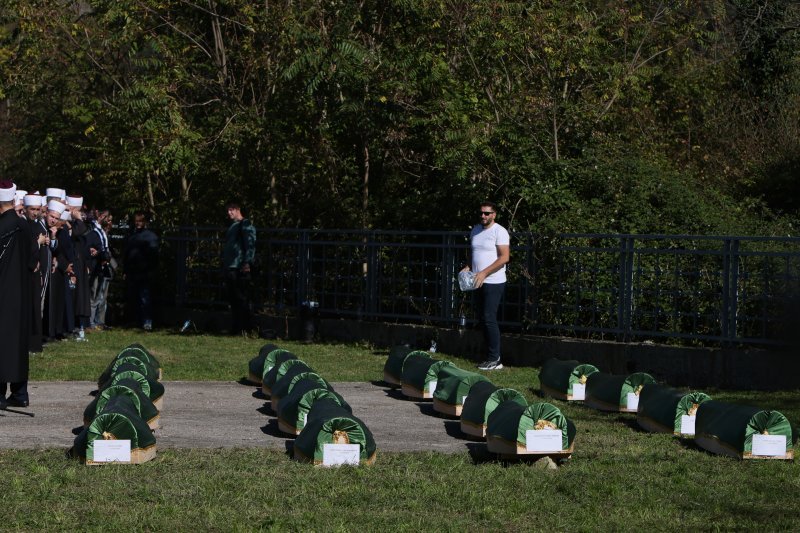
M 141 344 L 119 352 L 98 379 L 97 395 L 84 410 L 84 427 L 70 454 L 87 465 L 110 461 L 138 464 L 155 457 L 153 431 L 158 428 L 164 399 L 160 379 L 161 364 Z M 98 441 L 103 441 L 103 446 Z M 119 453 L 119 447 L 109 446 L 116 443 L 105 441 L 130 441 L 130 460 L 127 446 L 120 458 L 114 453 Z

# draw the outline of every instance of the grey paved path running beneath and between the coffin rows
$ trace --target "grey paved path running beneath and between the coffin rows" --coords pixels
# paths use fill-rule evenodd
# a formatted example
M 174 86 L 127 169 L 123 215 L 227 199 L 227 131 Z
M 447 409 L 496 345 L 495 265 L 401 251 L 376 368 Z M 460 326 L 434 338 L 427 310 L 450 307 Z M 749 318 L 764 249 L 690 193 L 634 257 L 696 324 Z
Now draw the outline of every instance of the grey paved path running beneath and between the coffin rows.
M 31 382 L 31 406 L 0 411 L 0 448 L 69 448 L 83 425 L 83 410 L 96 384 L 88 381 Z M 333 383 L 372 431 L 379 451 L 466 452 L 458 420 L 440 418 L 430 402 L 403 399 L 372 383 Z M 167 381 L 159 449 L 264 447 L 285 450 L 287 436 L 251 385 L 236 382 Z M 21 413 L 33 413 L 25 416 Z

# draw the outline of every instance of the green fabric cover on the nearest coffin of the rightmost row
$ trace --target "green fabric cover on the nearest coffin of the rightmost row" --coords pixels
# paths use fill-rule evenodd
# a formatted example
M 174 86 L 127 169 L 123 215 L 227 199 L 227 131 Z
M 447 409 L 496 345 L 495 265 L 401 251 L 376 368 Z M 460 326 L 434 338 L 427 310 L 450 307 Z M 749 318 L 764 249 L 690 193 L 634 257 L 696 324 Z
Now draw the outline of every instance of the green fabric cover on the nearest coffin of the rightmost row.
M 718 400 L 700 404 L 695 435 L 715 438 L 737 453 L 752 453 L 753 435 L 785 435 L 786 450 L 797 442 L 797 428 L 779 411 Z

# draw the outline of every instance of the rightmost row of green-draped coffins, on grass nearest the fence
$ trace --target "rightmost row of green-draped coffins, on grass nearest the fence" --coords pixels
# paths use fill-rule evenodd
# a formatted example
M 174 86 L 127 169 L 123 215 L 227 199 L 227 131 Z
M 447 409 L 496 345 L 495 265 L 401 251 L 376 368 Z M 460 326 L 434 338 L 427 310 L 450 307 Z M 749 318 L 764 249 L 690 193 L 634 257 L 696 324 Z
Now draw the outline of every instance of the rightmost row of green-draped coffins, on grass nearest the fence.
M 649 374 L 605 374 L 578 361 L 549 359 L 539 373 L 542 392 L 584 400 L 603 411 L 636 413 L 647 431 L 694 438 L 701 448 L 737 458 L 793 459 L 797 428 L 778 411 L 712 400 L 656 384 Z

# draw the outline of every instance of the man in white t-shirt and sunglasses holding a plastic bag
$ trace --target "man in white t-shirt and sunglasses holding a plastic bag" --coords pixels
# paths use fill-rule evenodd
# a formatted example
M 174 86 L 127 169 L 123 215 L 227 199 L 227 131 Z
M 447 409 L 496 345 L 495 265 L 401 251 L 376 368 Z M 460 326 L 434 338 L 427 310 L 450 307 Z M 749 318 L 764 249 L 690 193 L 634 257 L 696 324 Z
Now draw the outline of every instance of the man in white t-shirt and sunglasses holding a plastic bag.
M 464 270 L 475 273 L 477 304 L 486 339 L 487 358 L 478 365 L 480 370 L 500 370 L 500 326 L 497 311 L 506 289 L 506 263 L 511 252 L 508 231 L 495 222 L 497 206 L 483 202 L 480 224 L 470 233 L 470 260 Z

